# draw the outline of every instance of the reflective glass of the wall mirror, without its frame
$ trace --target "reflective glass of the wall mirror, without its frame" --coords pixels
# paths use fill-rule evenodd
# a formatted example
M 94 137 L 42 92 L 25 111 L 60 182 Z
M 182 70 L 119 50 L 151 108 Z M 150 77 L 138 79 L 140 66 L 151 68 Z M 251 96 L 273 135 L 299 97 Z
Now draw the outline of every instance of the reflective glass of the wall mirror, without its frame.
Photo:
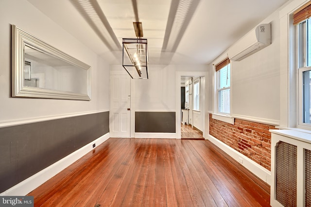
M 26 45 L 24 52 L 24 86 L 87 94 L 85 69 Z

